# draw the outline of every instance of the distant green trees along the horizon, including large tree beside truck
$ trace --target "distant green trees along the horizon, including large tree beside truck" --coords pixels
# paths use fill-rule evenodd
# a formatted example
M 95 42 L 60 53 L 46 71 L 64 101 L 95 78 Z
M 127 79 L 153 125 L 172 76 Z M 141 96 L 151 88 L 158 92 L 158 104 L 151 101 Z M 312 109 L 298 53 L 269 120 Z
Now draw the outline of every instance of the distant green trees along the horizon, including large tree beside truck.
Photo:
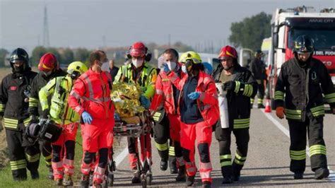
M 270 22 L 271 15 L 261 12 L 257 15 L 244 18 L 240 22 L 231 23 L 229 41 L 235 47 L 245 47 L 254 50 L 260 49 L 263 39 L 271 36 Z M 173 47 L 177 49 L 178 52 L 193 50 L 192 47 L 182 42 L 175 42 L 175 44 L 171 46 L 157 45 L 154 42 L 149 42 L 146 45 L 148 49 L 158 49 L 159 51 L 163 51 L 168 47 Z M 129 47 L 106 47 L 104 50 L 107 54 L 113 54 L 112 59 L 116 60 L 117 64 L 121 64 L 122 61 L 124 61 L 124 54 L 127 49 L 129 49 Z M 73 61 L 87 63 L 91 50 L 86 48 L 70 49 L 38 46 L 33 49 L 30 64 L 36 66 L 42 55 L 47 52 L 52 52 L 61 64 L 70 64 Z M 0 49 L 0 67 L 5 66 L 6 57 L 8 57 L 9 53 L 11 52 L 8 52 L 6 49 Z

